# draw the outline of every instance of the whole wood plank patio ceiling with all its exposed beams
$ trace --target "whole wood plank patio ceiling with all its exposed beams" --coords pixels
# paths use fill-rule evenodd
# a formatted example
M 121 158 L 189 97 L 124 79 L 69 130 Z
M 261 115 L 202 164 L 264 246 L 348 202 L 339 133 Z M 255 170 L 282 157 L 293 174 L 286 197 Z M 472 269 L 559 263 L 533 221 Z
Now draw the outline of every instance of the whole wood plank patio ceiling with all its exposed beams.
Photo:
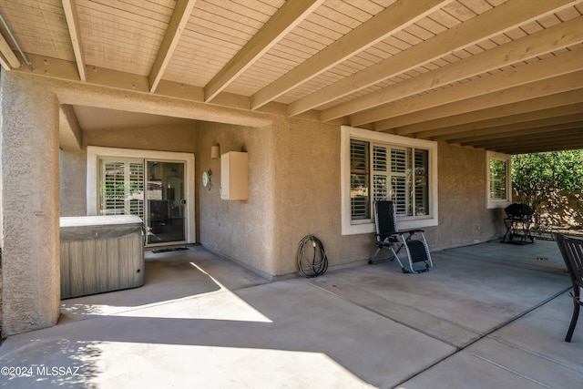
M 51 77 L 506 153 L 583 148 L 583 0 L 2 0 L 0 14 Z M 3 68 L 31 71 L 0 33 Z

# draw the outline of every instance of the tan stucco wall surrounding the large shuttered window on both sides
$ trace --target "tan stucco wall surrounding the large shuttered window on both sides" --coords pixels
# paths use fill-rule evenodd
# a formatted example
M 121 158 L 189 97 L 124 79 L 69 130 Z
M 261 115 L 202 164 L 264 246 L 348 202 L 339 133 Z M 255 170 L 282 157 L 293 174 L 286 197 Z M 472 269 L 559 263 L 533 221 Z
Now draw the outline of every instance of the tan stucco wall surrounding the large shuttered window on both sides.
M 289 120 L 278 128 L 274 175 L 273 253 L 277 276 L 297 271 L 302 237 L 324 244 L 330 266 L 364 262 L 373 235 L 342 235 L 340 128 Z M 504 232 L 502 210 L 486 209 L 486 152 L 438 145 L 439 225 L 425 228 L 431 250 L 496 239 Z

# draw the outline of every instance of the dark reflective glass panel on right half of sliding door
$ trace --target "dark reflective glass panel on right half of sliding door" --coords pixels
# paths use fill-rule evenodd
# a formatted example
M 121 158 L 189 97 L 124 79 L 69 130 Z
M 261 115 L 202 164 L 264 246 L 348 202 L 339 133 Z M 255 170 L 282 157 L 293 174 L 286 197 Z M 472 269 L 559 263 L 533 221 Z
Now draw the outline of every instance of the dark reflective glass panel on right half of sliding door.
M 184 162 L 146 163 L 147 244 L 186 241 Z

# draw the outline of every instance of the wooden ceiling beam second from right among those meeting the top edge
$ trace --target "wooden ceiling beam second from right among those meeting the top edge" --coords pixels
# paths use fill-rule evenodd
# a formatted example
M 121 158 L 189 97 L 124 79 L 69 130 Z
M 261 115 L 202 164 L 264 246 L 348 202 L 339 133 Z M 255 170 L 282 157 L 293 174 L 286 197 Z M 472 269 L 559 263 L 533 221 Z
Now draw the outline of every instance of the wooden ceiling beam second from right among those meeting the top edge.
M 565 2 L 566 0 L 560 1 Z M 294 67 L 285 76 L 278 78 L 268 87 L 255 93 L 251 97 L 251 108 L 257 109 L 264 106 L 292 88 L 322 74 L 404 27 L 411 26 L 424 16 L 432 14 L 451 2 L 452 0 L 417 0 L 414 2 L 398 0 L 361 26 L 334 41 L 332 45 Z

